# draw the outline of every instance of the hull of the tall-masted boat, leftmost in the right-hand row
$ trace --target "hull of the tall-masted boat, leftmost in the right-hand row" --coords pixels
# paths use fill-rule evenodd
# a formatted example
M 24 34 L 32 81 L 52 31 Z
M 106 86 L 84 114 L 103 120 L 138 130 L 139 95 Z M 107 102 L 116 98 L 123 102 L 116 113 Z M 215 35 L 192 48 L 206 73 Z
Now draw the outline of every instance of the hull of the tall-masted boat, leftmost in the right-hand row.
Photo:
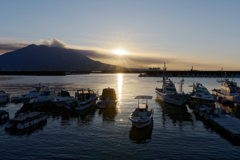
M 157 97 L 167 103 L 175 104 L 181 106 L 187 102 L 187 100 L 191 97 L 189 94 L 165 94 L 159 92 L 155 89 Z

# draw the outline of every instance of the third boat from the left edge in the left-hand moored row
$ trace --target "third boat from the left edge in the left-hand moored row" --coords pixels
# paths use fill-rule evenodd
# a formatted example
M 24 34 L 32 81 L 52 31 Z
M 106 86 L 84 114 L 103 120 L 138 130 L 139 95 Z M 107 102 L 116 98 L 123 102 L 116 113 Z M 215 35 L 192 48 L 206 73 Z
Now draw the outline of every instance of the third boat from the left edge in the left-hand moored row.
M 37 98 L 31 99 L 27 104 L 31 105 L 33 108 L 41 107 L 41 106 L 52 106 L 52 100 L 56 98 L 55 90 L 49 89 L 44 90 L 40 93 Z

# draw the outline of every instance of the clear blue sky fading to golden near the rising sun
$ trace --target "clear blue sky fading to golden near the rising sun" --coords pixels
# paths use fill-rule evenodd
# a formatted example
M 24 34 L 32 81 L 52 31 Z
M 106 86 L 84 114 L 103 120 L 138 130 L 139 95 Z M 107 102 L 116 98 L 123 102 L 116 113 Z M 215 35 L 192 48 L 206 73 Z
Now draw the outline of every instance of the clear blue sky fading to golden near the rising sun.
M 59 42 L 125 67 L 240 70 L 239 8 L 239 0 L 1 0 L 0 54 Z

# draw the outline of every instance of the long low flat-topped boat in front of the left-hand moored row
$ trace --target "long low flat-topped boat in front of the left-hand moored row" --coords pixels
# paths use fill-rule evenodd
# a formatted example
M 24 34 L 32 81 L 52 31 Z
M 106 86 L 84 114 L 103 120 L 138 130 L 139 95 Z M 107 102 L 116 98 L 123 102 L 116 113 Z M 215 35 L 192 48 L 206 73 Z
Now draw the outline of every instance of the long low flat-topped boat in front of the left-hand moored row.
M 46 120 L 47 115 L 44 112 L 31 112 L 11 119 L 5 124 L 5 129 L 22 130 Z

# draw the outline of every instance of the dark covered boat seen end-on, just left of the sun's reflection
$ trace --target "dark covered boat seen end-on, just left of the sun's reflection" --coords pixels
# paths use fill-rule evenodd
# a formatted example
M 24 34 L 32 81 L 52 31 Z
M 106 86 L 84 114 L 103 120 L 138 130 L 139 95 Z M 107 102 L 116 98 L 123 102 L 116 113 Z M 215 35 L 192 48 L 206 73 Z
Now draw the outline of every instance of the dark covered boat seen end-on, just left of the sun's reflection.
M 117 105 L 117 95 L 114 88 L 104 88 L 97 103 L 99 108 L 115 108 Z

